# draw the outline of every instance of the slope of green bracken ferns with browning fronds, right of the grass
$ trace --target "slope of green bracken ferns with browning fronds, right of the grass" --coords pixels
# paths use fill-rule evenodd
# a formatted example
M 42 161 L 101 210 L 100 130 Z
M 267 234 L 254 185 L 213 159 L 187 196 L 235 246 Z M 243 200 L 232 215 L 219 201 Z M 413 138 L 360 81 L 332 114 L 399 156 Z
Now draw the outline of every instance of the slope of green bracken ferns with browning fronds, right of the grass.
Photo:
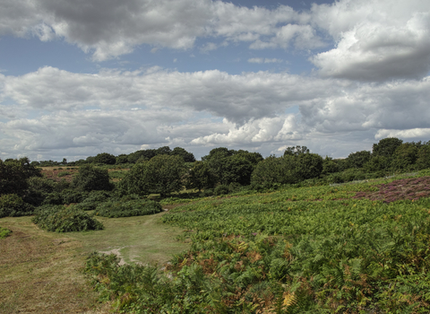
M 354 198 L 401 190 L 398 180 L 180 206 L 163 221 L 184 228 L 192 248 L 167 275 L 100 255 L 89 257 L 87 272 L 127 312 L 425 313 L 430 200 L 418 190 L 427 179 L 409 184 L 412 200 Z

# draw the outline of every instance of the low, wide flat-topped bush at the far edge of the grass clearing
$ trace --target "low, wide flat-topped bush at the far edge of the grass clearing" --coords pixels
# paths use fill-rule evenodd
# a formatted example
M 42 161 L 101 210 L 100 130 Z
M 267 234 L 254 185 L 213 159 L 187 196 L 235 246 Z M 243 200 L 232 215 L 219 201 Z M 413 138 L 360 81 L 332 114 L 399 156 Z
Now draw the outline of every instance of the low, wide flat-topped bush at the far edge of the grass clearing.
M 108 218 L 142 216 L 161 211 L 162 208 L 158 202 L 143 199 L 107 201 L 96 208 L 97 215 Z

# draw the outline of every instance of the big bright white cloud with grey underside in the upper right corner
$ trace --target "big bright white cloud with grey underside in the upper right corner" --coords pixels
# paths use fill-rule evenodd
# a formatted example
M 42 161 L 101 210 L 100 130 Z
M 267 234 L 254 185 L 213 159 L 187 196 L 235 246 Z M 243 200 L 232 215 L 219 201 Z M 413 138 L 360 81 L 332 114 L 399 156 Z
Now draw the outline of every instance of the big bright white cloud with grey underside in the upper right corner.
M 314 24 L 336 47 L 311 57 L 323 76 L 359 81 L 421 78 L 430 70 L 430 3 L 341 0 L 314 5 Z

